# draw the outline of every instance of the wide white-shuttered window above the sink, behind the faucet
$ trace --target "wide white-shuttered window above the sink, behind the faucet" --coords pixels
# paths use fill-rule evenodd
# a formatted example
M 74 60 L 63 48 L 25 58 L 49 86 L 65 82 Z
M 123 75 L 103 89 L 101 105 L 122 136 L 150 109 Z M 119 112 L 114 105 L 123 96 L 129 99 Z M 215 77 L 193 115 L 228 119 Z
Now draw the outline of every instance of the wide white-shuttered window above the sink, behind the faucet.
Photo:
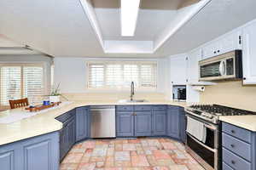
M 89 61 L 88 88 L 156 88 L 156 61 Z

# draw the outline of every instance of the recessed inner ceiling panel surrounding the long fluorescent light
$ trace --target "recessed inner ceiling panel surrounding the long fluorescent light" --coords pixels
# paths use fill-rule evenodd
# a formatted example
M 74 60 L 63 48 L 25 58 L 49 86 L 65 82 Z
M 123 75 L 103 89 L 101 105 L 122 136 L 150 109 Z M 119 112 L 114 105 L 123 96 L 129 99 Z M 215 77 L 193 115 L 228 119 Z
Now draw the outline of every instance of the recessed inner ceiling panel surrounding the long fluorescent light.
M 95 11 L 103 39 L 135 41 L 154 41 L 155 37 L 165 29 L 170 19 L 177 13 L 176 10 L 140 9 L 135 36 L 121 37 L 119 8 L 96 8 Z

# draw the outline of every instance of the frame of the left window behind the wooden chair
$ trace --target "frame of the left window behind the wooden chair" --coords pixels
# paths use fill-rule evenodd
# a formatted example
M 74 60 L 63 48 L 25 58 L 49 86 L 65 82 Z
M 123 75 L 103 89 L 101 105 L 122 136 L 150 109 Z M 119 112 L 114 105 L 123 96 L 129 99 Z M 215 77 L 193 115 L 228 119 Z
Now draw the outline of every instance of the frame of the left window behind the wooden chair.
M 20 97 L 23 98 L 24 97 L 24 70 L 23 67 L 26 66 L 38 66 L 38 67 L 42 67 L 43 68 L 43 75 L 42 75 L 42 82 L 43 82 L 43 95 L 45 94 L 45 88 L 46 88 L 46 81 L 45 81 L 45 65 L 44 62 L 0 62 L 0 88 L 1 88 L 1 67 L 4 66 L 20 66 Z M 0 96 L 1 96 L 1 90 L 0 90 Z M 8 105 L 2 105 L 2 102 L 0 101 L 0 106 L 1 107 L 5 107 L 5 106 L 9 106 Z

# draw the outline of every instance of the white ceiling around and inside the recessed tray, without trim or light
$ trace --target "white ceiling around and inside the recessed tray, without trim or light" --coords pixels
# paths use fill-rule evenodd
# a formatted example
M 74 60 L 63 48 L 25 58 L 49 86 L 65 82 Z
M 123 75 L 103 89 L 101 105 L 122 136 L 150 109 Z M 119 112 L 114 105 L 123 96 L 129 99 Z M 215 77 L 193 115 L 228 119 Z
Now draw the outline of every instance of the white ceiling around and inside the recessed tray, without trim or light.
M 172 21 L 175 9 L 187 6 L 179 2 L 143 0 L 133 38 L 120 37 L 119 0 L 93 4 L 104 40 L 154 41 Z M 105 54 L 79 0 L 0 1 L 0 34 L 53 56 L 162 57 L 185 53 L 255 19 L 255 6 L 255 0 L 212 0 L 154 54 Z

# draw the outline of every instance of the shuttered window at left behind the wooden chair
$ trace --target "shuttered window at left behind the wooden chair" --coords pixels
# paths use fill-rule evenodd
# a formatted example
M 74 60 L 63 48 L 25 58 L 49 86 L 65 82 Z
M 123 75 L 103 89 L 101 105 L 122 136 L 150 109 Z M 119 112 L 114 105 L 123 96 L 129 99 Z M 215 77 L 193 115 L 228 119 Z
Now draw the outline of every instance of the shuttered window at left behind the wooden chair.
M 9 105 L 9 99 L 28 98 L 39 103 L 44 95 L 44 68 L 42 65 L 0 65 L 0 104 Z

